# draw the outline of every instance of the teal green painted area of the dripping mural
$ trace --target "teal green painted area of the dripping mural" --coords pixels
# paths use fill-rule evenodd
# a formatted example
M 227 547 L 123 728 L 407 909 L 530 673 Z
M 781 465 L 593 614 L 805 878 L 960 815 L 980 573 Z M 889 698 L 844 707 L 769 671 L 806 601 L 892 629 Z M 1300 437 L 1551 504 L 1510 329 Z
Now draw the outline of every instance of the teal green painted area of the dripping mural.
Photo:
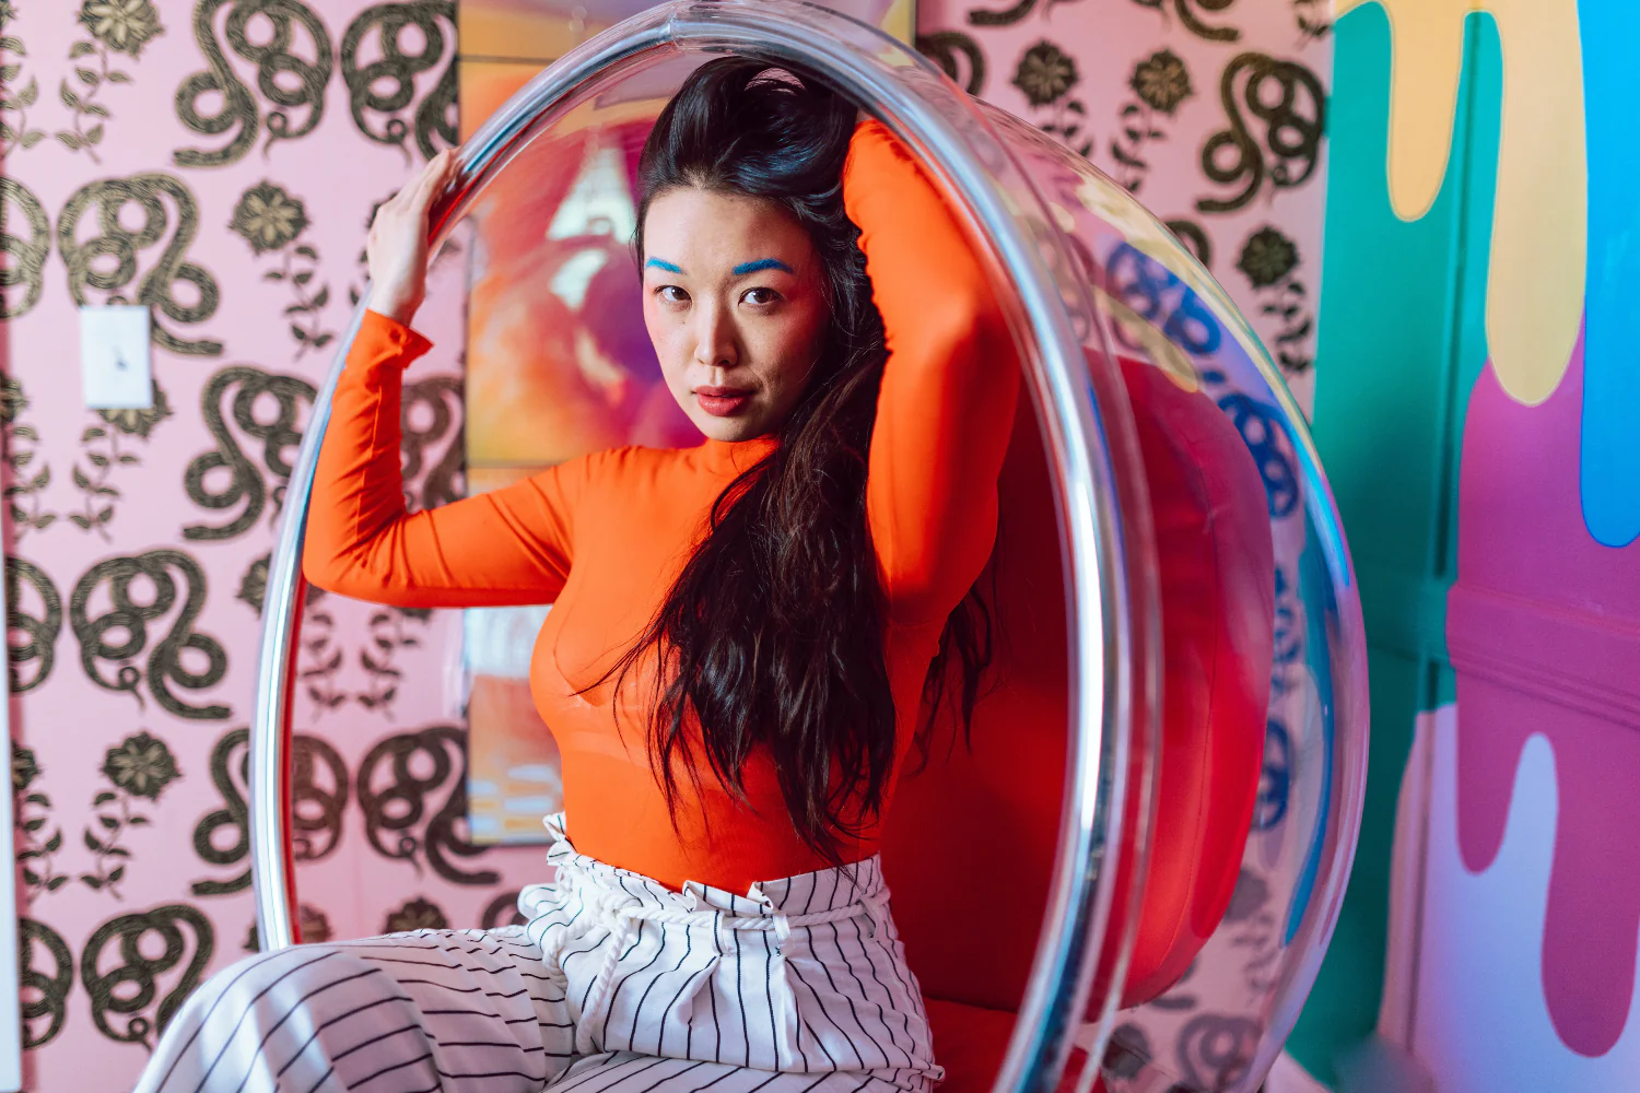
M 1450 693 L 1456 459 L 1486 362 L 1486 264 L 1502 102 L 1491 16 L 1469 16 L 1446 179 L 1415 221 L 1389 205 L 1391 36 L 1383 8 L 1338 20 L 1315 364 L 1315 442 L 1361 587 L 1373 703 L 1366 813 L 1338 929 L 1287 1049 L 1322 1082 L 1373 1034 L 1396 798 L 1417 714 Z

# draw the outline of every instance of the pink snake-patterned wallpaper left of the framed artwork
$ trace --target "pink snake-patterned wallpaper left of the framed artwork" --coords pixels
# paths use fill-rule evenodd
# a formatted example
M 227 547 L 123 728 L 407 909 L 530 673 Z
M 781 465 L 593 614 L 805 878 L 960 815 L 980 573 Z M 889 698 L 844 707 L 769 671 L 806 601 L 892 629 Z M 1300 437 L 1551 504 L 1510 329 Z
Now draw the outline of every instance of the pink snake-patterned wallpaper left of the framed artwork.
M 372 203 L 454 120 L 441 90 L 453 5 L 367 8 L 5 8 L 5 529 L 18 850 L 33 877 L 30 1090 L 128 1088 L 175 1001 L 248 946 L 238 741 L 256 564 L 330 362 L 321 342 L 362 283 Z M 421 29 L 384 61 L 389 13 Z M 300 105 L 269 102 L 259 66 Z M 377 95 L 403 80 L 408 105 L 379 108 L 369 77 Z M 440 349 L 410 380 L 454 405 L 459 257 L 440 277 L 421 323 Z M 161 411 L 82 406 L 75 300 L 113 295 L 154 303 L 172 339 L 154 347 Z M 431 423 L 423 403 L 412 431 Z M 448 495 L 458 429 L 459 415 L 413 439 L 418 497 Z M 317 860 L 298 870 L 302 901 L 331 936 L 477 924 L 541 850 L 471 854 L 462 841 L 458 619 L 336 596 L 310 619 L 297 729 L 313 764 L 297 811 Z

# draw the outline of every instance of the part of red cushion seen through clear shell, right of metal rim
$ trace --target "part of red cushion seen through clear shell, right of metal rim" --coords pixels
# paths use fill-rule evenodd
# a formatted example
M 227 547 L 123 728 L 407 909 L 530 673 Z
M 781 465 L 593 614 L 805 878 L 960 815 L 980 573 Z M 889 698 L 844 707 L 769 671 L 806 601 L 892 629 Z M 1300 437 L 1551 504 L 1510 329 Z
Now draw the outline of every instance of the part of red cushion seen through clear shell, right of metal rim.
M 1264 482 L 1235 424 L 1161 369 L 1123 361 L 1122 377 L 1150 487 L 1163 618 L 1156 834 L 1122 991 L 1122 1005 L 1137 1006 L 1184 975 L 1240 875 L 1264 755 L 1276 560 Z M 1107 937 L 1118 936 L 1114 919 Z M 1114 955 L 1104 954 L 1104 973 Z

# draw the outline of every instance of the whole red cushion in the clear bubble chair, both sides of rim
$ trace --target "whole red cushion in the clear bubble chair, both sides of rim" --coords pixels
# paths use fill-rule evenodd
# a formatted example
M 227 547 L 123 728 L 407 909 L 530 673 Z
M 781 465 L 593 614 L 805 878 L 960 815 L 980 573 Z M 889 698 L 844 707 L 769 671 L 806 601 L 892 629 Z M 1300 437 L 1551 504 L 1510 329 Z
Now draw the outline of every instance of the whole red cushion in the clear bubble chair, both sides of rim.
M 1184 972 L 1240 870 L 1263 752 L 1274 562 L 1263 482 L 1233 424 L 1150 365 L 1123 362 L 1122 375 L 1156 521 L 1164 659 L 1150 880 L 1123 990 L 1137 1005 Z M 974 711 L 973 749 L 941 747 L 902 782 L 884 869 L 923 993 L 1010 1013 L 1053 875 L 1068 729 L 1059 529 L 1028 400 L 999 485 L 987 574 L 999 687 Z M 938 739 L 954 732 L 941 726 Z M 1120 936 L 1120 921 L 1107 936 Z M 1105 972 L 1112 955 L 1102 954 Z

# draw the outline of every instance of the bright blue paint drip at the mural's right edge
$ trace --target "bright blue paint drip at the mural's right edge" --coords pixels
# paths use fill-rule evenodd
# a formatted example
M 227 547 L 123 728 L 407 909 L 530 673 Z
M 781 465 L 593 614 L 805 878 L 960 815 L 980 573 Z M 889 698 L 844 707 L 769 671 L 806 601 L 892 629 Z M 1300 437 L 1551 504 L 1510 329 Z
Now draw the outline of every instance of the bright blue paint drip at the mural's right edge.
M 1640 536 L 1640 69 L 1632 3 L 1583 0 L 1583 110 L 1589 157 L 1589 269 L 1584 292 L 1583 521 L 1596 542 Z

